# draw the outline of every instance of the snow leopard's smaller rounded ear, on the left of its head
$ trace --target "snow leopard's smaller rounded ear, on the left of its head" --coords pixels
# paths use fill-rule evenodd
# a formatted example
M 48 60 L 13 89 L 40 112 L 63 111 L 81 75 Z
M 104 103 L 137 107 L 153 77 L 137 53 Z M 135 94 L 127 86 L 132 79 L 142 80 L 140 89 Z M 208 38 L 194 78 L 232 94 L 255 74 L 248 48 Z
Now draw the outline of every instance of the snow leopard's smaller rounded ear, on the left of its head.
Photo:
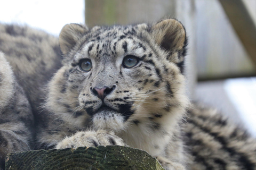
M 59 36 L 60 49 L 63 54 L 67 54 L 76 45 L 77 41 L 89 29 L 84 25 L 75 23 L 66 24 Z

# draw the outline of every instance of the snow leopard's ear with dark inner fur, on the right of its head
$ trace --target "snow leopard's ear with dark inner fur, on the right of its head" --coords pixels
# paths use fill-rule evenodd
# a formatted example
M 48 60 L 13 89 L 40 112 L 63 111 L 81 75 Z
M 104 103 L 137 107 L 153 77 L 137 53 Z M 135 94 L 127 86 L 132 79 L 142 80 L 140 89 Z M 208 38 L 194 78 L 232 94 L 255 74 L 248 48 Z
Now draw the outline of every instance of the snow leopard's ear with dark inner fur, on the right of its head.
M 186 55 L 187 37 L 183 25 L 175 19 L 161 20 L 151 27 L 156 43 L 169 53 L 168 60 L 183 62 Z

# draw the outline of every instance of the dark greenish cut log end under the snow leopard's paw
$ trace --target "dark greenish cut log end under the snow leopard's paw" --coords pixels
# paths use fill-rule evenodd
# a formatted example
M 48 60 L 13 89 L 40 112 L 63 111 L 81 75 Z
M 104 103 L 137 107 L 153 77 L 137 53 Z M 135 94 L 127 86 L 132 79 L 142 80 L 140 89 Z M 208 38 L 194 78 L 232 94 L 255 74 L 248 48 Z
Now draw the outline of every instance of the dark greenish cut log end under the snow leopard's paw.
M 123 146 L 32 150 L 9 154 L 5 169 L 161 169 L 146 151 Z

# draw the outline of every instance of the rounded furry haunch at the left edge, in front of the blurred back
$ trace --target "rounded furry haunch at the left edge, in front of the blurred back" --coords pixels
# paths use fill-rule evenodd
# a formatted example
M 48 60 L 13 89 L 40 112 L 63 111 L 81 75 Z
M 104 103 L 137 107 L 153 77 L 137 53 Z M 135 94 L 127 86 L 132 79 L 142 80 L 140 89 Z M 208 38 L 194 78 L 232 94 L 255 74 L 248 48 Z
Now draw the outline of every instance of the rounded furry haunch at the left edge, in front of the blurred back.
M 0 169 L 10 152 L 30 149 L 34 117 L 11 66 L 0 52 Z

